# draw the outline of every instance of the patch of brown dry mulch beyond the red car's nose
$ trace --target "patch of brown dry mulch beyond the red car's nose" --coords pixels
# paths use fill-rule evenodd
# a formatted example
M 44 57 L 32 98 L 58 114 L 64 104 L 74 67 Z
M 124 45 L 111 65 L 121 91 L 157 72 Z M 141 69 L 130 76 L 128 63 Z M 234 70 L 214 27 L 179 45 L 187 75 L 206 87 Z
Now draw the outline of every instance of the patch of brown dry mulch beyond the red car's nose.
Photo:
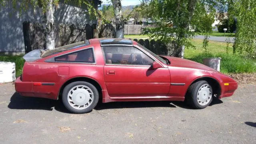
M 256 84 L 256 73 L 252 74 L 229 74 L 231 78 L 234 78 L 238 84 Z

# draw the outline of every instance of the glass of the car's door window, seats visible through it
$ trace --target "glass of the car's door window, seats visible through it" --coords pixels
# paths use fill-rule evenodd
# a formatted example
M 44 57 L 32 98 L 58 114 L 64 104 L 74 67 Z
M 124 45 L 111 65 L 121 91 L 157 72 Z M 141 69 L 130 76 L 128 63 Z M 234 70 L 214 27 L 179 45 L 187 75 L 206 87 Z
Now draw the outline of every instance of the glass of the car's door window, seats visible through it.
M 106 64 L 151 65 L 154 60 L 132 46 L 104 46 Z

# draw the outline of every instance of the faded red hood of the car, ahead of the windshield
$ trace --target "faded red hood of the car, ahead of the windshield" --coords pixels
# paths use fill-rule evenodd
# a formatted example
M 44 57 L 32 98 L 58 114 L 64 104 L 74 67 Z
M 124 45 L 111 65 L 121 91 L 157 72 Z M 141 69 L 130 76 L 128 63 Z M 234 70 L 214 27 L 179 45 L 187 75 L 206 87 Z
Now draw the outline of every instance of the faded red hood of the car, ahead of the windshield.
M 212 72 L 218 72 L 213 68 L 200 64 L 198 62 L 194 62 L 192 60 L 186 60 L 184 58 L 176 58 L 171 56 L 163 56 L 163 57 L 170 60 L 171 64 L 169 66 L 176 66 L 176 67 L 182 67 L 182 68 L 195 68 L 199 70 L 208 70 Z

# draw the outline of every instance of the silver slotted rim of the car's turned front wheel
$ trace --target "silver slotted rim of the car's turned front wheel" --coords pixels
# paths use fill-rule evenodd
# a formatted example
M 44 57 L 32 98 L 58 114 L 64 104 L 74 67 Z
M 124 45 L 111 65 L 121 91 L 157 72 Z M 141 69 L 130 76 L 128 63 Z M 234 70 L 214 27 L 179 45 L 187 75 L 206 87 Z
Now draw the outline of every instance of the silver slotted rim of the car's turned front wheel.
M 202 85 L 197 92 L 197 102 L 201 106 L 205 106 L 212 98 L 212 87 L 209 84 Z

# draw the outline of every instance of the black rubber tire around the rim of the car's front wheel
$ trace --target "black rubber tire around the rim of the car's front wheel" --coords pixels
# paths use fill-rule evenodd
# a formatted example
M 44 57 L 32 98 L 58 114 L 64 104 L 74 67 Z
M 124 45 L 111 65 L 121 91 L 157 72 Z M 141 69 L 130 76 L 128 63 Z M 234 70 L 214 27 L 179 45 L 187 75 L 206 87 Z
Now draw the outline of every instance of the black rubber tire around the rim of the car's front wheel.
M 209 104 L 212 102 L 212 97 L 210 98 L 210 101 L 208 102 L 208 104 L 202 106 L 200 104 L 198 104 L 197 101 L 197 93 L 198 90 L 200 89 L 201 86 L 203 86 L 204 84 L 208 84 L 208 82 L 206 82 L 205 80 L 201 80 L 198 82 L 195 82 L 194 84 L 192 84 L 189 88 L 188 88 L 188 92 L 186 94 L 186 102 L 192 106 L 195 109 L 203 109 L 206 108 L 207 106 L 209 106 Z M 210 86 L 210 84 L 209 84 Z M 210 88 L 212 89 L 212 87 L 210 86 Z

